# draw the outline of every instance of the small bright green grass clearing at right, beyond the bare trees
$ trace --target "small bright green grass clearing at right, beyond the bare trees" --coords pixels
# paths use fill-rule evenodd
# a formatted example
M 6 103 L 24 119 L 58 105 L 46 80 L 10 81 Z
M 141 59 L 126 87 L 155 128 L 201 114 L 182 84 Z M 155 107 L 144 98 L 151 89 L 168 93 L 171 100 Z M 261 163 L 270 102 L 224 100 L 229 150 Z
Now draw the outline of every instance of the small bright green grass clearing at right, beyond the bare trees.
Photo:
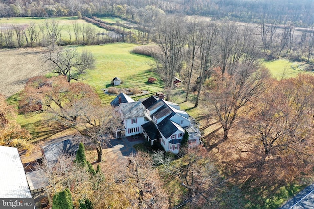
M 269 69 L 276 79 L 295 77 L 300 72 L 304 72 L 302 70 L 295 70 L 300 63 L 291 62 L 285 59 L 264 61 L 262 64 Z

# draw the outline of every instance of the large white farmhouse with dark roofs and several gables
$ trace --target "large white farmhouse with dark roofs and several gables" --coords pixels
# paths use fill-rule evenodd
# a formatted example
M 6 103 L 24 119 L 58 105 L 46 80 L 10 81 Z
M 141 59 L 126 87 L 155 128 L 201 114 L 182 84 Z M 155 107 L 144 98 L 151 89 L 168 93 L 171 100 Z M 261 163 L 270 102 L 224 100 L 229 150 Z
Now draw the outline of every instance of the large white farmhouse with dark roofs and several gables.
M 166 152 L 178 154 L 185 131 L 189 147 L 201 137 L 198 123 L 176 103 L 151 96 L 140 102 L 121 103 L 118 107 L 126 136 L 143 133 L 145 139 L 158 141 Z

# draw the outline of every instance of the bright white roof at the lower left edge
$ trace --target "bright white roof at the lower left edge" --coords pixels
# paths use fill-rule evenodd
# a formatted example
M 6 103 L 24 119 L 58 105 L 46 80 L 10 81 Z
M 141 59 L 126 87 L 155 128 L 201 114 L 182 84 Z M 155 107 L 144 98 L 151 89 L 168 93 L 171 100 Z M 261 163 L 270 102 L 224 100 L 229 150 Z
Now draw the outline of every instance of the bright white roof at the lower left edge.
M 32 198 L 17 148 L 0 146 L 0 198 Z

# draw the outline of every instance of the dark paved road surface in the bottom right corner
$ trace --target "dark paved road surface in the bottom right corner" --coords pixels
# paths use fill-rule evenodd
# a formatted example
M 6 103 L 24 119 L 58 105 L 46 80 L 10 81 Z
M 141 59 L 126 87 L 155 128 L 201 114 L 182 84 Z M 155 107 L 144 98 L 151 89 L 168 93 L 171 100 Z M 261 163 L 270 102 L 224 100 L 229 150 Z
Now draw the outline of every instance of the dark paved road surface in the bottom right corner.
M 314 184 L 303 189 L 279 209 L 314 209 Z

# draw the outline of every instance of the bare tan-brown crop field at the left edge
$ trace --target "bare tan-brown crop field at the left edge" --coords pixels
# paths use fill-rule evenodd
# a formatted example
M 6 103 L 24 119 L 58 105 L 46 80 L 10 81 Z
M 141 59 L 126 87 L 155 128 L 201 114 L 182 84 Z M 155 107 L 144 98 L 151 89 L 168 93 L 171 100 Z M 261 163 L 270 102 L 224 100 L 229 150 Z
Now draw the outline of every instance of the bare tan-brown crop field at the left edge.
M 0 93 L 9 97 L 21 91 L 29 78 L 45 75 L 42 54 L 40 48 L 0 50 Z

